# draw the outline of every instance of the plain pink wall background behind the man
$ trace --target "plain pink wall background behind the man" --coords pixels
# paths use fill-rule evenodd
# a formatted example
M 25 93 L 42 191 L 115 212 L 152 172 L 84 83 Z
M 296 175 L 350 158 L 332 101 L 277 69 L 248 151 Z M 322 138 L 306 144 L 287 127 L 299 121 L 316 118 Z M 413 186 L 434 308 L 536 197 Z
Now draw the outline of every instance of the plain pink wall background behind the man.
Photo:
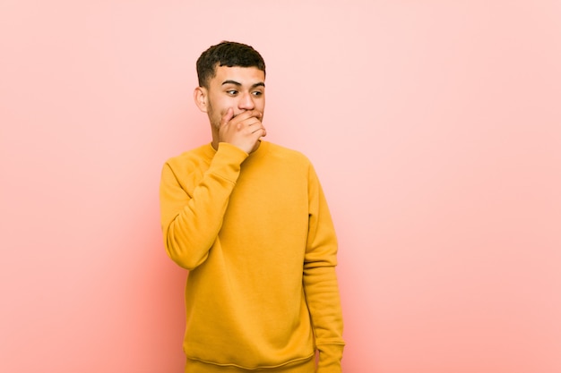
M 266 60 L 341 242 L 347 373 L 561 371 L 561 2 L 0 2 L 0 371 L 181 372 L 160 167 Z

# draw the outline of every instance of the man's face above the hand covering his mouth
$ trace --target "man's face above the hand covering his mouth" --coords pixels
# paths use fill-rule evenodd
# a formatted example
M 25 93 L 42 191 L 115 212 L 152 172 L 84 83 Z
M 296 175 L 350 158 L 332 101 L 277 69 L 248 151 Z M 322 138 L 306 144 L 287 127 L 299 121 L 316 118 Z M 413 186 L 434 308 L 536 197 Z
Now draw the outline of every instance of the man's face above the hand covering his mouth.
M 246 110 L 265 109 L 265 74 L 256 67 L 217 66 L 209 81 L 206 95 L 206 113 L 212 128 L 218 130 L 220 121 L 231 107 L 234 117 Z M 263 117 L 262 117 L 263 120 Z

